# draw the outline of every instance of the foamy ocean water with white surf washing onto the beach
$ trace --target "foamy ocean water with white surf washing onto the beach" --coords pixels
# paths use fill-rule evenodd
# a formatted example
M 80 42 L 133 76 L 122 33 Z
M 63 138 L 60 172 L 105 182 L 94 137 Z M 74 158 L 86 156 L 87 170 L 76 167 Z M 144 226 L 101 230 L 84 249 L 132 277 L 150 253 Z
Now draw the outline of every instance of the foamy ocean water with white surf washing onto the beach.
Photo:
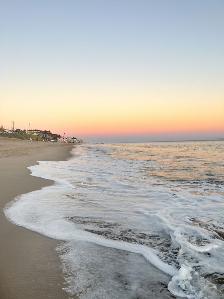
M 224 298 L 224 141 L 92 144 L 28 167 L 55 181 L 5 207 L 61 240 L 70 298 Z

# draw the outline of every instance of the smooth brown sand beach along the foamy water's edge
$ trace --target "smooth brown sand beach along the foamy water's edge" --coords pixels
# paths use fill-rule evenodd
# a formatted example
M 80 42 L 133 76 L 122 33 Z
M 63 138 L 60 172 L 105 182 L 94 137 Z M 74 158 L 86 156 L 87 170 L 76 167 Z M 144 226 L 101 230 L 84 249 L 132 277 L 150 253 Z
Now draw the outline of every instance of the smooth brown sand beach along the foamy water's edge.
M 74 145 L 0 137 L 0 299 L 68 299 L 54 247 L 58 241 L 16 226 L 3 208 L 19 194 L 54 183 L 30 176 L 36 161 L 62 161 Z

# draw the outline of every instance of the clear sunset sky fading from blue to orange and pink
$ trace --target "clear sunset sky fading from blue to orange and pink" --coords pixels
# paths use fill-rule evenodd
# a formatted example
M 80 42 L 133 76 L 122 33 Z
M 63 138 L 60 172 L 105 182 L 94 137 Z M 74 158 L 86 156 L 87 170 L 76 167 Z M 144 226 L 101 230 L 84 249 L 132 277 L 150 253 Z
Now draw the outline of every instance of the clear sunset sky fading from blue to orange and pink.
M 0 125 L 90 142 L 224 137 L 223 16 L 223 0 L 2 0 Z

